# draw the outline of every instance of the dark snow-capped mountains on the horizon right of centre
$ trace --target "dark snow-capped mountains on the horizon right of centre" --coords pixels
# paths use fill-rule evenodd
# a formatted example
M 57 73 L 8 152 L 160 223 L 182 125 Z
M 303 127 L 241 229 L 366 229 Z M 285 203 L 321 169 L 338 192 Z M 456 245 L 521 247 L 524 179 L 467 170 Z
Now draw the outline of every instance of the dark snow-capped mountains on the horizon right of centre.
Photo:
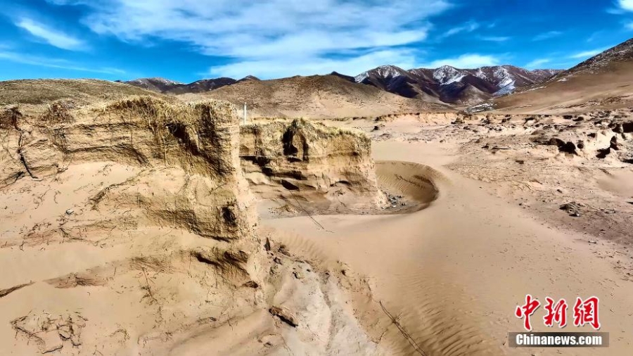
M 510 94 L 516 88 L 543 82 L 558 70 L 525 70 L 512 65 L 458 69 L 444 65 L 437 69 L 403 70 L 381 65 L 354 80 L 409 98 L 436 98 L 445 103 L 473 103 L 492 96 Z

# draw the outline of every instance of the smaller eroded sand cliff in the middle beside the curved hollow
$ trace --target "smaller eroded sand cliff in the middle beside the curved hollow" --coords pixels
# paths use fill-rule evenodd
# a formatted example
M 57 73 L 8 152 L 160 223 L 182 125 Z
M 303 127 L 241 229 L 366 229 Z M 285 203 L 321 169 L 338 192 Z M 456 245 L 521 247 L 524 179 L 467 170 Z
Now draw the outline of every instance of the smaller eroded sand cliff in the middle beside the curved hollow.
M 241 127 L 240 157 L 253 191 L 310 212 L 380 208 L 371 141 L 307 120 Z

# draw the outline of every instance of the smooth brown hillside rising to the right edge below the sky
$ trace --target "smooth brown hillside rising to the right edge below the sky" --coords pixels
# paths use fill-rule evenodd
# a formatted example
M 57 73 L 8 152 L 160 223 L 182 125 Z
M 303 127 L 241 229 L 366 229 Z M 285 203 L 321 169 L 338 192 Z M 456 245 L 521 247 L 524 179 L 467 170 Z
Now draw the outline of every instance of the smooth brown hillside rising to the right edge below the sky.
M 494 98 L 478 108 L 516 113 L 573 113 L 628 106 L 633 106 L 633 39 L 546 82 Z

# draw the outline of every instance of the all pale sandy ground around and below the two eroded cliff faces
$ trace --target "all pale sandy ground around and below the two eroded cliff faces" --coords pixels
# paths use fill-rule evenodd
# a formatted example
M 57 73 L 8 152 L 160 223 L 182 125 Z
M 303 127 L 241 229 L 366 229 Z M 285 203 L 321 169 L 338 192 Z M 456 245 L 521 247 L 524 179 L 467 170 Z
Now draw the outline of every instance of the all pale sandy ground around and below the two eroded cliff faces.
M 90 208 L 123 184 L 136 195 L 112 204 L 142 217 L 139 191 L 179 193 L 178 171 L 129 188 L 141 168 L 96 160 L 11 182 L 0 192 L 0 355 L 630 355 L 628 113 L 458 119 L 325 122 L 371 136 L 395 208 L 262 214 L 235 246 L 171 219 L 110 226 Z M 577 296 L 599 297 L 610 348 L 509 348 L 526 294 L 565 298 L 569 320 Z M 543 316 L 535 331 L 560 331 Z M 580 330 L 593 331 L 563 331 Z

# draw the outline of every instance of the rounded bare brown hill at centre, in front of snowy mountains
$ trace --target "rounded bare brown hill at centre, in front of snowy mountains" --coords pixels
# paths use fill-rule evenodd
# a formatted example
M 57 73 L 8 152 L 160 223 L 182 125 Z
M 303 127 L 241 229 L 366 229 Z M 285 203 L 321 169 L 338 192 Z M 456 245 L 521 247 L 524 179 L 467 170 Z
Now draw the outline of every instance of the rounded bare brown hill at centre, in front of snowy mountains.
M 452 111 L 446 105 L 404 98 L 340 75 L 246 80 L 202 94 L 183 94 L 179 98 L 216 98 L 239 106 L 247 103 L 250 115 L 260 117 L 350 117 Z

